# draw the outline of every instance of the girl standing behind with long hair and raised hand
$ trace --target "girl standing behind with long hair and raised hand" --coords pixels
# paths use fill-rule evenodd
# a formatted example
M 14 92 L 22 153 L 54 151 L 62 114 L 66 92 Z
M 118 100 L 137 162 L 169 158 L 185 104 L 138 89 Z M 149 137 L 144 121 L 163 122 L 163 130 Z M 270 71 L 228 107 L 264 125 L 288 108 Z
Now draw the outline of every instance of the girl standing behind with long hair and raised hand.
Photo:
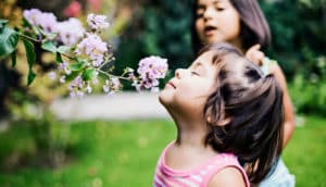
M 256 0 L 197 0 L 193 4 L 192 45 L 195 52 L 205 43 L 230 42 L 256 64 L 273 74 L 284 91 L 285 148 L 294 130 L 294 114 L 281 68 L 260 51 L 271 42 L 268 24 Z M 235 64 L 235 67 L 237 65 Z M 294 178 L 279 160 L 273 175 L 260 186 L 294 186 Z

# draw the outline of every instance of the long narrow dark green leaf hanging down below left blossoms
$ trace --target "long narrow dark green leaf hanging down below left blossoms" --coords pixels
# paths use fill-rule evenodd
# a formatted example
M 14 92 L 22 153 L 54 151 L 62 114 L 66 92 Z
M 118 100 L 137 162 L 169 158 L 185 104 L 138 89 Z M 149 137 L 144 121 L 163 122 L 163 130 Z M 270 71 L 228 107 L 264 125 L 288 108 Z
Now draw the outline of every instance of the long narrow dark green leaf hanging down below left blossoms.
M 36 59 L 36 54 L 34 51 L 34 43 L 26 39 L 23 39 L 23 41 L 24 41 L 26 57 L 27 57 L 27 63 L 28 63 L 27 85 L 30 85 L 36 77 L 36 74 L 33 72 L 33 65 L 34 65 L 34 62 Z

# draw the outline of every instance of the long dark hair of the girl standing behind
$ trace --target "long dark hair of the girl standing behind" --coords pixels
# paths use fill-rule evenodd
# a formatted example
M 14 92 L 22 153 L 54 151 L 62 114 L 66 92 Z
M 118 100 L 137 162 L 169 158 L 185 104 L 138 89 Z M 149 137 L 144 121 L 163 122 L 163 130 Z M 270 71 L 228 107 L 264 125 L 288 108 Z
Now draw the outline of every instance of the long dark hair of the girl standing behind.
M 248 50 L 253 45 L 260 43 L 261 47 L 267 48 L 271 43 L 271 30 L 266 18 L 256 0 L 229 0 L 233 7 L 240 15 L 240 38 L 242 48 Z M 202 47 L 196 32 L 196 20 L 198 0 L 192 4 L 191 39 L 193 52 L 197 53 Z

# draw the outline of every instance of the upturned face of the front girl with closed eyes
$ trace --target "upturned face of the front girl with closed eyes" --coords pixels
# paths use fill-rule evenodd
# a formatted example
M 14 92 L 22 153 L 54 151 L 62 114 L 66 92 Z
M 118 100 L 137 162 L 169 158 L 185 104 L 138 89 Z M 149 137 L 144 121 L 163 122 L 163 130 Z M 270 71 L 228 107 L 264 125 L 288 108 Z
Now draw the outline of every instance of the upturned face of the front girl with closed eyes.
M 217 66 L 213 52 L 204 52 L 188 68 L 178 68 L 160 94 L 161 103 L 170 111 L 202 116 L 203 107 L 216 87 Z

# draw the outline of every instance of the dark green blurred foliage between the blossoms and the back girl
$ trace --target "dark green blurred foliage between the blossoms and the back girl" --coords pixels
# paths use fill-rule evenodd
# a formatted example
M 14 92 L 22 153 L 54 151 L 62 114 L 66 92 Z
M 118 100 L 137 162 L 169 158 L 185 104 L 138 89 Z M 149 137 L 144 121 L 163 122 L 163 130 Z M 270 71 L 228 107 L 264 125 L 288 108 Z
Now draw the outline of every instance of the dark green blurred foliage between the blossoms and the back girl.
M 168 58 L 171 70 L 191 61 L 190 0 L 154 0 L 143 3 L 121 36 L 116 51 L 116 70 L 126 63 L 137 67 L 146 55 Z

